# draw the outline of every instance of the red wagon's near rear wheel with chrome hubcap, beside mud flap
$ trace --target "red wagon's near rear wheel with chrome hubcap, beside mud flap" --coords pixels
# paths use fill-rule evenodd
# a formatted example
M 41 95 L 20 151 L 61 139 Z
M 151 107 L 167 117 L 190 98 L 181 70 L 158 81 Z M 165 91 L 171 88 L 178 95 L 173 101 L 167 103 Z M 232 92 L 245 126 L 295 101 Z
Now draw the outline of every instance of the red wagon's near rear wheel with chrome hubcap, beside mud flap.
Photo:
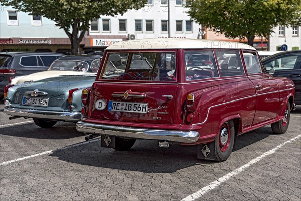
M 215 160 L 225 161 L 229 158 L 234 145 L 235 129 L 232 120 L 225 122 L 215 138 Z

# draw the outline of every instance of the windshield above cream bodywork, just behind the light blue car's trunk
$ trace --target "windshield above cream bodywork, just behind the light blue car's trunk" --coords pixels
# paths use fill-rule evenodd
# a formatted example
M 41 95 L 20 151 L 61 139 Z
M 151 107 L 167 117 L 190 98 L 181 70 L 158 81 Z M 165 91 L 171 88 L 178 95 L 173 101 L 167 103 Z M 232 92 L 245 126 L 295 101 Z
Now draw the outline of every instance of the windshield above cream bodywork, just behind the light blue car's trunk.
M 67 70 L 67 71 L 82 71 L 86 72 L 89 68 L 88 63 L 84 61 L 55 61 L 51 64 L 48 70 Z

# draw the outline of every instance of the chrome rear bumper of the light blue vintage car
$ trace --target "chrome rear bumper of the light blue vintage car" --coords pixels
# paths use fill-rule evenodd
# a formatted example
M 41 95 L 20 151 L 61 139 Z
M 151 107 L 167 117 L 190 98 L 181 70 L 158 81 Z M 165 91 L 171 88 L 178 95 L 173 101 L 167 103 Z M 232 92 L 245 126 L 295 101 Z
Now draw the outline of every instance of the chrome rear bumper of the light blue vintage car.
M 44 110 L 30 110 L 20 108 L 6 108 L 3 111 L 5 114 L 20 116 L 20 117 L 33 117 L 38 119 L 53 119 L 77 122 L 81 119 L 80 112 L 56 112 Z

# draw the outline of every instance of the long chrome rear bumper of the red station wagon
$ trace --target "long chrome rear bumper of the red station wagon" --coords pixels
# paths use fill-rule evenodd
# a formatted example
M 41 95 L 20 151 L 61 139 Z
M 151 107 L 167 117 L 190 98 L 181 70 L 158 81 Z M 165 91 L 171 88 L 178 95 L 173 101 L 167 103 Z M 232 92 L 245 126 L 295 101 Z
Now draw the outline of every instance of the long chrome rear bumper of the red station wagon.
M 77 131 L 83 133 L 95 133 L 100 135 L 147 140 L 169 140 L 172 142 L 182 143 L 196 142 L 200 137 L 197 131 L 142 129 L 134 127 L 94 124 L 83 121 L 76 123 L 76 129 Z

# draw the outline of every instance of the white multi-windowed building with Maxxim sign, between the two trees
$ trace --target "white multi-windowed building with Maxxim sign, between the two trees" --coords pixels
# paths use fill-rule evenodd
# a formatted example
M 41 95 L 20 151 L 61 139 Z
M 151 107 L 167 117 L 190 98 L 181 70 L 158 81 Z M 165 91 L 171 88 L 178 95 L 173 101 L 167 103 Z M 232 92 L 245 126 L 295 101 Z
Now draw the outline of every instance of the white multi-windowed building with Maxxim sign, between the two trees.
M 190 19 L 184 4 L 183 0 L 170 0 L 168 9 L 168 0 L 148 0 L 137 11 L 100 16 L 91 22 L 84 49 L 101 50 L 103 44 L 141 38 L 198 38 L 201 26 Z

